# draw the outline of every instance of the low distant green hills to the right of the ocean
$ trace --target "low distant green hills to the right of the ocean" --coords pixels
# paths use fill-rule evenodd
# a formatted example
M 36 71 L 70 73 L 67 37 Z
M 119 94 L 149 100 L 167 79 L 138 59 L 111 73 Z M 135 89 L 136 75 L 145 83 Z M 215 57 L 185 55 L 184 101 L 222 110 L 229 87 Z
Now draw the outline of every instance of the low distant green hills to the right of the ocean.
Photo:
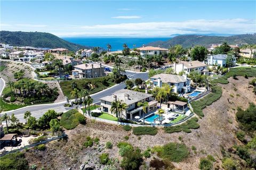
M 241 45 L 241 44 L 256 44 L 255 35 L 235 35 L 235 36 L 202 36 L 202 35 L 180 35 L 173 37 L 167 41 L 155 41 L 153 43 L 147 44 L 147 46 L 161 45 L 161 47 L 169 48 L 170 45 L 174 46 L 177 44 L 182 45 L 183 47 L 191 47 L 196 45 L 201 45 L 205 47 L 211 46 L 211 44 L 221 44 L 227 42 L 231 45 Z

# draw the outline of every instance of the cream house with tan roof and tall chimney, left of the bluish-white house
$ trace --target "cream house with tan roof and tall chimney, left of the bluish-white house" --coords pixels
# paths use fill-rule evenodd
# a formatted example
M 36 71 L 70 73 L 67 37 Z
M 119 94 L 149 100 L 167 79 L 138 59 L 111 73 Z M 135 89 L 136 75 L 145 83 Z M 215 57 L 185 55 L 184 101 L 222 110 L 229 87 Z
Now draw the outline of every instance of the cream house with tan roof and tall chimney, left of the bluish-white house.
M 199 61 L 180 62 L 179 64 L 173 63 L 173 70 L 178 74 L 184 71 L 185 74 L 189 74 L 191 71 L 197 71 L 201 74 L 208 75 L 207 64 Z

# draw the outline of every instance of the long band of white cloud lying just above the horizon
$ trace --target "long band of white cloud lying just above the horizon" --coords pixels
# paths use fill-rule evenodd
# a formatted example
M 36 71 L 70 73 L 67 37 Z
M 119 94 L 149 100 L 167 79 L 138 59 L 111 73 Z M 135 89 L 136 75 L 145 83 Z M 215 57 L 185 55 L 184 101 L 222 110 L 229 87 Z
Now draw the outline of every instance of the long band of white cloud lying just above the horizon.
M 1 30 L 9 31 L 43 31 L 60 37 L 74 36 L 133 36 L 158 37 L 174 33 L 229 33 L 242 34 L 256 32 L 256 20 L 188 20 L 181 22 L 137 22 L 97 25 L 37 25 L 1 24 Z M 39 27 L 41 26 L 41 27 Z

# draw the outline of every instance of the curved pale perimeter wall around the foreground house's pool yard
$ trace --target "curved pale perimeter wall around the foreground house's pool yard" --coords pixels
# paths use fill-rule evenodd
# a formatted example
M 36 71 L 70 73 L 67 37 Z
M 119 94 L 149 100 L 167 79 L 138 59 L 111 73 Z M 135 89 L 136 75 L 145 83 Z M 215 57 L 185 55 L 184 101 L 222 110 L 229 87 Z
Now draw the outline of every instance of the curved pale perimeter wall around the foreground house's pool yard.
M 78 109 L 78 111 L 81 113 L 81 114 L 84 114 L 83 111 L 81 109 Z M 98 121 L 101 121 L 101 122 L 106 122 L 106 123 L 111 123 L 111 124 L 117 124 L 117 125 L 129 125 L 129 126 L 134 126 L 134 127 L 138 127 L 138 126 L 151 126 L 151 127 L 167 127 L 167 126 L 172 126 L 172 125 L 177 125 L 177 124 L 180 124 L 180 123 L 183 123 L 185 121 L 187 121 L 190 117 L 194 116 L 195 114 L 194 113 L 191 113 L 188 117 L 186 117 L 185 119 L 177 122 L 177 123 L 172 123 L 172 124 L 149 124 L 149 125 L 141 125 L 141 124 L 133 124 L 133 123 L 124 123 L 124 122 L 117 122 L 117 121 L 110 121 L 110 120 L 106 120 L 104 118 L 99 118 L 99 117 L 93 117 L 93 116 L 89 116 L 89 115 L 85 115 L 86 117 L 89 117 L 91 119 L 94 119 L 94 120 L 98 120 Z

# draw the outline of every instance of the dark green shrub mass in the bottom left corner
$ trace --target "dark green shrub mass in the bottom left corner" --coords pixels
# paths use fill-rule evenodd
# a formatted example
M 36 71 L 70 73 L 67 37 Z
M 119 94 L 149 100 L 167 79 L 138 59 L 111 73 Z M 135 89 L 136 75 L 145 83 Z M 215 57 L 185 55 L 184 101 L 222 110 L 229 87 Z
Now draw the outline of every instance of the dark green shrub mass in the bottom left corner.
M 15 152 L 0 157 L 0 169 L 28 169 L 28 161 L 26 160 L 25 154 L 22 152 Z

